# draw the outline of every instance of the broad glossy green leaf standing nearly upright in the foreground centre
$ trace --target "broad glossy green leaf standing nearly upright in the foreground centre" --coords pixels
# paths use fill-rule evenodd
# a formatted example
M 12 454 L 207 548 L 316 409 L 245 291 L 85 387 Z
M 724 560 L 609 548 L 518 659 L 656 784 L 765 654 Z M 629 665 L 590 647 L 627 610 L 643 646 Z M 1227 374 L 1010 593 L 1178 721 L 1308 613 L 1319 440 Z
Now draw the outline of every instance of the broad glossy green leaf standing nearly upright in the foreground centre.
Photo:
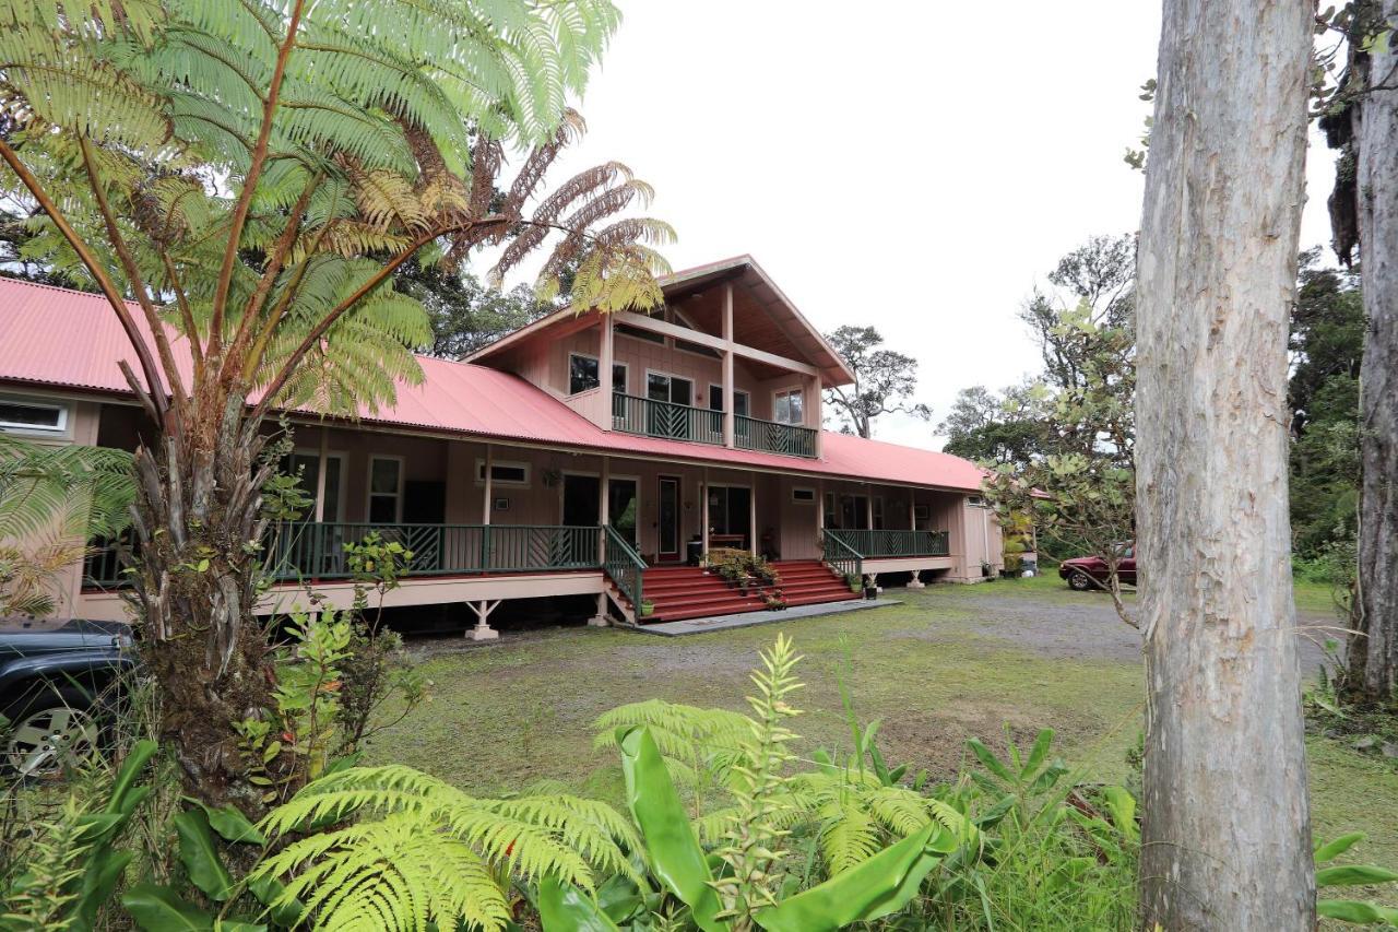
M 720 903 L 710 886 L 713 875 L 656 739 L 644 725 L 633 725 L 617 729 L 617 746 L 626 805 L 640 827 L 651 872 L 689 907 L 695 925 L 705 932 L 726 932 L 728 924 L 716 918 Z

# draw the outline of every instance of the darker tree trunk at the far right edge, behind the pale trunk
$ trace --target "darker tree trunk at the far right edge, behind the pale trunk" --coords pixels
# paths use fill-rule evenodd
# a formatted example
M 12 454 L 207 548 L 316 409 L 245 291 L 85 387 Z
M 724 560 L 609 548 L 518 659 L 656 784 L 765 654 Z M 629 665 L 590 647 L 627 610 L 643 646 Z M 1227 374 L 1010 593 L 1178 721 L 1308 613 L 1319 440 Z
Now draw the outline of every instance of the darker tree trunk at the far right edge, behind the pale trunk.
M 1398 0 L 1363 4 L 1362 29 L 1398 25 Z M 1359 592 L 1349 638 L 1349 698 L 1398 701 L 1398 35 L 1376 42 L 1350 105 L 1360 283 L 1369 329 L 1359 375 Z

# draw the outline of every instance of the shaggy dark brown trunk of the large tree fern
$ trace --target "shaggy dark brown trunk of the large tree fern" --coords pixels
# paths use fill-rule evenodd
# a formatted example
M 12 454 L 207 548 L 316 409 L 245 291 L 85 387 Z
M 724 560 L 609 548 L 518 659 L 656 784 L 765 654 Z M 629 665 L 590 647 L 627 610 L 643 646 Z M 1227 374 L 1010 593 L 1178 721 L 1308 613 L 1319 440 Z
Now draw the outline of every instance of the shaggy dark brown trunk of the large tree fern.
M 185 792 L 261 809 L 238 722 L 271 705 L 267 638 L 253 616 L 260 577 L 263 439 L 245 396 L 217 382 L 166 416 L 136 455 L 136 592 L 143 656 L 159 687 L 161 735 Z M 280 761 L 270 761 L 277 768 Z

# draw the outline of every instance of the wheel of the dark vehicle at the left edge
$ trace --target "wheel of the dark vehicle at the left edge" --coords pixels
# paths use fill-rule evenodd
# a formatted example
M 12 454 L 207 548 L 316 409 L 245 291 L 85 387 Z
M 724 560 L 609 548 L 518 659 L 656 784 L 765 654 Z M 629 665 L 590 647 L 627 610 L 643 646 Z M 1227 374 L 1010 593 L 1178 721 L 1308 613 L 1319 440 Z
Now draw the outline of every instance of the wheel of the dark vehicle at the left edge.
M 53 777 L 92 754 L 101 743 L 92 698 L 77 689 L 46 689 L 6 709 L 0 770 L 21 779 Z

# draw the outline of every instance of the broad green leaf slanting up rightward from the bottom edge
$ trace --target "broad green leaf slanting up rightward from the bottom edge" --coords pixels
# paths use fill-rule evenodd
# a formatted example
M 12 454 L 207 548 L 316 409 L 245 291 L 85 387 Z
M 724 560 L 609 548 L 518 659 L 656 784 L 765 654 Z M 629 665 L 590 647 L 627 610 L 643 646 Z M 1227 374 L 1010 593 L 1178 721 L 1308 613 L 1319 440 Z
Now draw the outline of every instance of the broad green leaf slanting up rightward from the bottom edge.
M 902 910 L 923 879 L 956 849 L 956 840 L 937 823 L 889 845 L 864 863 L 759 911 L 768 932 L 835 932 Z

